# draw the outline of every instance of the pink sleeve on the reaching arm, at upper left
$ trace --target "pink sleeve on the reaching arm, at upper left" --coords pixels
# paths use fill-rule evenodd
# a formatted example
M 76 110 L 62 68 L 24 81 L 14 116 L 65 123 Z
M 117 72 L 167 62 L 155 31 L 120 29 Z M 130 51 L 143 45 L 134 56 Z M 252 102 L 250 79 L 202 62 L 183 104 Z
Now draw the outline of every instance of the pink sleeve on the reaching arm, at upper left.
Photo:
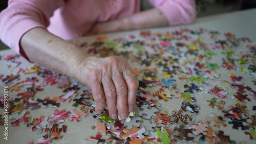
M 0 13 L 1 40 L 26 57 L 19 47 L 22 36 L 36 27 L 47 28 L 53 12 L 64 3 L 64 0 L 10 0 L 8 7 Z

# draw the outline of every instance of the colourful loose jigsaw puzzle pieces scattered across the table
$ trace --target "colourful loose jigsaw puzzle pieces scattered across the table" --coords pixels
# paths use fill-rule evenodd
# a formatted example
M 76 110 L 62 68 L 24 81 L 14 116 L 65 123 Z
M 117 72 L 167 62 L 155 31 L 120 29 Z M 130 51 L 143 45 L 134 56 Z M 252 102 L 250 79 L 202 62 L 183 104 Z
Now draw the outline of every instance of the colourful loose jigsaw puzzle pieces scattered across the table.
M 165 33 L 141 31 L 139 35 L 125 35 L 112 40 L 100 36 L 91 44 L 77 45 L 91 55 L 118 55 L 135 64 L 131 69 L 139 80 L 136 108 L 126 119 L 112 119 L 107 108 L 100 114 L 96 113 L 91 90 L 77 80 L 37 65 L 19 67 L 21 62 L 17 54 L 1 56 L 10 74 L 0 74 L 0 80 L 8 85 L 9 95 L 18 91 L 17 97 L 8 99 L 10 119 L 15 119 L 11 125 L 19 126 L 19 122 L 23 122 L 31 131 L 36 130 L 38 134 L 46 132 L 38 136 L 38 143 L 50 143 L 53 139 L 65 137 L 65 134 L 60 135 L 70 125 L 65 118 L 74 123 L 73 120 L 79 122 L 87 115 L 94 118 L 95 125 L 91 131 L 95 135 L 86 139 L 81 137 L 82 143 L 243 142 L 233 141 L 232 137 L 224 135 L 222 128 L 227 125 L 232 125 L 233 130 L 241 131 L 241 135 L 255 142 L 256 114 L 250 115 L 248 112 L 256 110 L 256 106 L 253 109 L 247 107 L 247 103 L 256 101 L 256 45 L 252 44 L 250 38 L 224 33 L 225 39 L 219 39 L 222 36 L 220 32 L 203 28 L 183 28 Z M 245 44 L 247 53 L 235 53 Z M 221 63 L 214 61 L 217 57 L 222 58 Z M 230 73 L 219 74 L 219 69 Z M 232 70 L 247 73 L 251 81 L 245 82 L 240 75 L 232 74 Z M 31 74 L 36 76 L 31 77 Z M 21 76 L 26 78 L 22 79 Z M 229 81 L 222 77 L 228 77 Z M 184 85 L 178 87 L 180 83 Z M 246 85 L 249 83 L 254 85 Z M 21 91 L 25 86 L 26 89 Z M 37 92 L 46 91 L 46 86 L 56 87 L 62 92 L 35 100 Z M 227 93 L 228 89 L 232 89 L 233 93 Z M 197 120 L 202 109 L 197 103 L 201 99 L 199 92 L 212 109 L 209 115 L 204 116 L 204 122 Z M 172 106 L 172 111 L 161 107 L 161 104 L 174 99 L 183 101 L 176 104 L 179 110 L 172 110 Z M 226 106 L 226 100 L 236 100 L 236 103 Z M 4 108 L 4 97 L 0 101 L 1 108 Z M 57 110 L 61 103 L 69 103 L 72 107 Z M 26 117 L 30 110 L 49 107 L 55 109 L 51 115 Z M 3 125 L 2 117 L 0 121 Z M 211 123 L 220 130 L 212 131 Z M 170 125 L 175 125 L 174 129 L 170 129 Z M 196 139 L 197 136 L 200 138 Z

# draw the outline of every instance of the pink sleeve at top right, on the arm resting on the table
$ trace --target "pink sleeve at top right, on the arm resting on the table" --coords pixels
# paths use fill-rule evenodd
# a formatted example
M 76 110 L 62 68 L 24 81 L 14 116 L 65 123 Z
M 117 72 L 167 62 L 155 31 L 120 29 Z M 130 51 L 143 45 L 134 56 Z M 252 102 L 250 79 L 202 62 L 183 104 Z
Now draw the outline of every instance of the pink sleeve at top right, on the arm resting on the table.
M 148 0 L 148 2 L 162 10 L 170 26 L 192 23 L 197 16 L 195 0 Z

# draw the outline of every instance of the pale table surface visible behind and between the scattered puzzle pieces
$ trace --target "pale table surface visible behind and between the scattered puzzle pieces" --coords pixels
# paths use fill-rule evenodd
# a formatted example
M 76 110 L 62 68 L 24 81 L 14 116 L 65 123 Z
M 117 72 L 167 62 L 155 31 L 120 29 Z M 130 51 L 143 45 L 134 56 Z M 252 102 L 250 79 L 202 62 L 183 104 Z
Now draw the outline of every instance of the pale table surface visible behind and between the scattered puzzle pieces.
M 253 41 L 250 43 L 250 45 L 256 45 L 255 39 L 256 39 L 256 19 L 255 19 L 255 14 L 256 14 L 256 9 L 251 9 L 251 10 L 246 10 L 246 11 L 238 11 L 238 12 L 233 12 L 233 13 L 226 13 L 226 14 L 220 14 L 220 15 L 214 15 L 214 16 L 209 16 L 209 17 L 202 17 L 202 18 L 198 18 L 194 24 L 189 25 L 189 26 L 179 26 L 179 27 L 161 27 L 161 28 L 152 28 L 150 29 L 151 33 L 156 33 L 156 32 L 160 32 L 160 33 L 164 33 L 166 31 L 168 32 L 174 32 L 175 30 L 180 30 L 180 28 L 187 28 L 190 30 L 196 30 L 199 28 L 203 28 L 206 30 L 212 30 L 212 31 L 219 31 L 221 33 L 221 35 L 218 37 L 220 39 L 225 39 L 223 33 L 233 33 L 236 34 L 237 37 L 249 37 L 251 38 Z M 147 29 L 148 30 L 148 29 Z M 106 37 L 108 37 L 109 40 L 112 40 L 114 38 L 118 38 L 124 35 L 134 35 L 136 37 L 136 39 L 144 39 L 143 37 L 140 37 L 141 30 L 133 30 L 133 31 L 125 31 L 125 32 L 116 32 L 116 33 L 110 33 L 110 34 L 105 34 Z M 95 41 L 95 39 L 98 36 L 102 36 L 102 35 L 96 35 L 96 36 L 91 36 L 91 37 L 84 37 L 84 38 L 78 38 L 78 39 L 74 39 L 71 42 L 74 43 L 79 43 L 79 42 L 88 42 L 88 44 L 90 44 L 91 42 Z M 203 39 L 203 41 L 210 41 L 209 39 L 207 40 L 207 37 L 205 37 L 205 39 Z M 248 44 L 242 44 L 240 45 L 240 49 L 236 49 L 238 51 L 235 52 L 235 54 L 239 54 L 243 53 L 243 52 L 248 52 L 246 45 Z M 83 49 L 83 48 L 82 48 Z M 84 48 L 86 49 L 86 48 Z M 132 50 L 132 49 L 129 49 Z M 148 50 L 150 53 L 152 52 L 152 50 Z M 212 63 L 217 63 L 219 66 L 221 66 L 222 64 L 222 59 L 220 56 L 222 56 L 221 52 L 225 52 L 225 51 L 221 51 L 221 50 L 212 50 L 214 52 L 216 52 L 218 54 L 218 56 L 214 57 L 212 56 L 212 59 L 209 60 L 209 62 Z M 154 52 L 152 52 L 154 53 Z M 10 54 L 14 54 L 13 51 L 11 50 L 4 50 L 1 51 L 1 55 L 7 56 Z M 164 54 L 164 56 L 169 56 Z M 190 56 L 190 55 L 189 55 Z M 174 56 L 173 56 L 174 57 Z M 188 57 L 189 58 L 189 57 Z M 180 58 L 180 61 L 184 61 L 186 58 Z M 24 58 L 18 58 L 17 61 L 21 61 L 22 63 L 18 66 L 21 68 L 26 68 L 28 66 L 31 65 L 31 63 L 27 62 Z M 130 62 L 130 66 L 131 67 L 144 67 L 140 66 L 138 63 L 136 62 Z M 6 75 L 8 75 L 8 71 L 11 72 L 15 72 L 15 70 L 17 69 L 11 69 L 11 68 L 6 68 L 5 67 L 5 63 L 6 60 L 0 60 L 0 65 L 2 66 L 1 68 L 1 74 L 4 75 L 4 77 Z M 155 64 L 152 64 L 152 66 L 156 66 Z M 170 65 L 171 66 L 171 65 Z M 163 75 L 161 75 L 162 73 L 162 67 L 157 68 L 158 70 L 158 74 L 157 74 L 157 79 L 161 80 L 163 78 Z M 248 76 L 248 73 L 240 73 L 239 70 L 225 70 L 224 68 L 218 68 L 216 70 L 212 70 L 212 71 L 216 71 L 217 73 L 220 73 L 222 75 L 221 78 L 218 79 L 213 79 L 213 80 L 207 80 L 206 82 L 210 83 L 210 84 L 214 84 L 216 81 L 218 80 L 225 80 L 228 81 L 229 83 L 231 83 L 229 76 L 227 75 L 228 73 L 230 74 L 237 74 L 237 76 L 242 76 L 244 81 L 244 85 L 245 86 L 249 86 L 252 88 L 252 90 L 255 91 L 255 85 L 253 85 L 252 78 Z M 142 79 L 142 73 L 139 73 L 138 79 L 141 80 Z M 23 74 L 20 73 L 20 80 L 25 80 L 26 77 L 37 77 L 37 75 L 34 74 Z M 195 76 L 195 75 L 194 75 Z M 3 77 L 3 78 L 4 78 Z M 2 78 L 2 79 L 3 79 Z M 184 84 L 190 84 L 191 82 L 185 82 L 185 81 L 180 81 L 178 78 L 178 75 L 175 75 L 174 78 L 168 78 L 168 79 L 175 79 L 176 80 L 176 88 L 179 89 L 180 92 L 183 92 L 184 90 L 186 90 L 187 88 L 184 88 Z M 57 81 L 57 80 L 56 80 Z M 72 80 L 72 82 L 74 82 Z M 195 82 L 193 82 L 195 83 Z M 203 84 L 201 83 L 195 83 L 198 86 L 202 86 Z M 0 82 L 0 93 L 1 95 L 4 94 L 4 86 L 6 84 L 4 84 L 2 81 Z M 18 91 L 9 91 L 8 95 L 10 96 L 10 98 L 14 99 L 17 98 L 16 95 L 18 92 L 23 92 L 24 90 L 26 90 L 27 87 L 30 87 L 31 85 L 25 85 L 23 87 L 20 87 L 20 90 Z M 78 95 L 76 96 L 76 98 L 79 98 L 80 94 L 83 93 L 82 90 L 89 90 L 90 88 L 88 87 L 82 87 L 80 86 L 80 90 L 77 90 Z M 37 91 L 35 94 L 34 100 L 36 99 L 44 99 L 45 97 L 58 97 L 61 94 L 65 94 L 63 92 L 61 92 L 61 89 L 56 88 L 56 86 L 50 86 L 49 84 L 47 86 L 42 87 L 44 88 L 44 90 L 42 91 Z M 156 87 L 152 87 L 152 88 L 145 88 L 145 90 L 150 91 L 151 95 L 153 95 L 153 93 L 155 93 L 155 91 L 159 90 L 159 88 L 161 88 L 160 86 L 156 86 Z M 231 93 L 236 93 L 237 90 L 233 89 L 233 88 L 228 88 L 227 90 L 225 90 L 225 92 L 228 92 L 228 95 L 226 99 L 221 99 L 219 98 L 219 100 L 223 100 L 225 102 L 224 105 L 224 109 L 227 110 L 226 108 L 228 106 L 234 105 L 236 104 L 236 99 L 232 100 L 230 97 Z M 246 94 L 249 94 L 248 91 L 246 91 Z M 178 95 L 178 94 L 177 94 Z M 206 116 L 209 115 L 209 113 L 215 113 L 217 115 L 223 115 L 223 113 L 221 113 L 221 111 L 217 111 L 216 108 L 211 109 L 210 107 L 208 107 L 208 103 L 206 103 L 207 100 L 211 100 L 211 98 L 213 98 L 213 94 L 209 94 L 206 93 L 205 90 L 201 91 L 201 92 L 194 92 L 194 96 L 191 97 L 195 97 L 196 98 L 196 105 L 200 106 L 199 108 L 199 114 L 197 114 L 196 116 L 191 116 L 193 118 L 193 123 L 196 124 L 197 122 L 202 122 L 203 124 L 208 124 L 204 119 Z M 9 98 L 9 99 L 10 99 Z M 249 98 L 249 97 L 248 97 Z M 72 98 L 74 99 L 74 98 Z M 163 100 L 159 100 L 158 97 L 154 97 L 154 100 L 157 100 L 159 104 L 161 104 L 161 108 L 163 109 L 162 111 L 166 111 L 167 115 L 173 115 L 173 111 L 178 111 L 181 107 L 182 102 L 184 101 L 183 99 L 180 98 L 175 98 L 173 96 L 172 99 L 169 99 L 167 102 L 164 102 Z M 251 102 L 248 102 L 247 100 L 245 100 L 245 102 L 247 103 L 247 109 L 249 110 L 249 115 L 255 114 L 255 111 L 252 111 L 252 106 L 255 105 L 255 101 L 251 99 Z M 41 115 L 44 115 L 44 117 L 47 117 L 48 115 L 51 115 L 53 113 L 53 111 L 55 109 L 58 110 L 63 110 L 65 109 L 66 111 L 70 111 L 72 109 L 78 109 L 75 107 L 72 107 L 71 105 L 74 102 L 70 102 L 68 103 L 66 102 L 59 102 L 60 106 L 57 108 L 52 108 L 50 107 L 50 105 L 48 105 L 47 108 L 42 108 L 40 107 L 39 109 L 36 110 L 31 110 L 31 107 L 29 107 L 28 109 L 24 109 L 23 111 L 28 110 L 30 113 L 27 114 L 26 116 L 31 116 L 30 122 L 32 122 L 33 118 L 39 118 Z M 41 103 L 39 104 L 41 105 Z M 160 111 L 160 112 L 162 112 Z M 87 112 L 89 114 L 89 112 Z M 186 112 L 189 114 L 189 112 Z M 0 109 L 0 114 L 4 114 L 4 109 Z M 96 136 L 96 130 L 92 130 L 91 127 L 94 126 L 94 121 L 95 119 L 92 117 L 92 115 L 94 114 L 89 114 L 86 117 L 81 117 L 81 121 L 80 122 L 68 122 L 68 118 L 65 118 L 65 122 L 63 124 L 59 124 L 59 128 L 62 125 L 66 125 L 67 126 L 67 132 L 66 133 L 60 133 L 60 135 L 63 136 L 63 138 L 59 139 L 59 140 L 53 140 L 53 143 L 81 143 L 81 141 L 83 139 L 88 139 L 90 136 Z M 195 115 L 195 114 L 189 114 L 189 115 Z M 33 141 L 34 143 L 37 142 L 38 138 L 41 138 L 43 135 L 46 134 L 46 132 L 42 132 L 40 134 L 38 134 L 36 131 L 31 132 L 31 129 L 26 127 L 26 124 L 23 124 L 23 122 L 19 123 L 19 126 L 11 126 L 10 123 L 14 122 L 14 120 L 10 120 L 10 115 L 8 115 L 8 140 L 4 140 L 4 130 L 5 127 L 4 126 L 0 126 L 0 139 L 1 139 L 1 143 L 2 141 L 4 143 L 28 143 L 30 141 Z M 243 116 L 244 117 L 244 116 Z M 143 118 L 142 118 L 143 119 Z M 52 118 L 50 120 L 53 120 Z M 171 118 L 170 120 L 174 121 L 174 118 Z M 226 121 L 230 122 L 230 119 L 226 118 Z M 248 120 L 247 120 L 248 121 Z M 249 122 L 249 121 L 248 121 Z M 193 123 L 189 123 L 188 125 L 191 125 Z M 224 131 L 224 135 L 229 135 L 230 136 L 230 140 L 234 140 L 236 142 L 245 142 L 245 143 L 255 143 L 255 140 L 250 140 L 248 135 L 245 135 L 244 132 L 248 132 L 248 130 L 242 131 L 240 128 L 239 130 L 234 130 L 232 129 L 233 125 L 228 124 L 227 122 L 225 122 L 225 124 L 227 125 L 225 128 L 220 126 L 220 129 L 214 127 L 213 123 L 209 124 L 209 127 L 212 128 L 212 131 L 219 131 L 222 130 Z M 178 124 L 173 124 L 173 125 L 169 125 L 169 127 L 167 127 L 170 131 L 173 132 L 174 128 L 177 127 L 177 125 L 180 125 L 180 123 Z M 188 125 L 186 125 L 186 128 L 188 128 Z M 113 129 L 113 125 L 112 129 Z M 51 128 L 52 125 L 47 126 L 48 128 Z M 155 129 L 157 130 L 157 129 Z M 175 135 L 177 135 L 175 133 Z M 193 136 L 190 135 L 189 136 Z M 173 139 L 173 136 L 169 136 L 171 139 Z M 194 142 L 198 142 L 199 138 L 201 136 L 196 136 L 194 135 Z M 52 136 L 51 136 L 52 138 Z M 154 142 L 156 142 L 156 140 L 154 140 Z M 178 141 L 179 142 L 179 141 Z M 184 142 L 184 139 L 181 141 Z M 206 140 L 206 143 L 208 143 L 209 141 Z M 190 141 L 190 143 L 192 143 Z

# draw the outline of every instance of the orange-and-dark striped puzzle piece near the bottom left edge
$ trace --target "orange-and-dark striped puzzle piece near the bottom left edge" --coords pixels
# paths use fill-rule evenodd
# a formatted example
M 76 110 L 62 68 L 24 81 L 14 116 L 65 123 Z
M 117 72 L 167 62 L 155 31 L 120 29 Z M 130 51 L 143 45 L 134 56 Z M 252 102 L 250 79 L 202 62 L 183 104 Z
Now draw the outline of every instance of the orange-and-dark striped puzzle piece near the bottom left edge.
M 58 124 L 53 124 L 52 128 L 49 129 L 47 128 L 45 132 L 48 132 L 48 134 L 44 135 L 44 138 L 49 138 L 50 135 L 54 135 L 52 139 L 60 139 L 63 136 L 60 136 L 60 132 L 66 132 L 67 131 L 67 126 L 63 125 L 60 129 L 58 128 Z

